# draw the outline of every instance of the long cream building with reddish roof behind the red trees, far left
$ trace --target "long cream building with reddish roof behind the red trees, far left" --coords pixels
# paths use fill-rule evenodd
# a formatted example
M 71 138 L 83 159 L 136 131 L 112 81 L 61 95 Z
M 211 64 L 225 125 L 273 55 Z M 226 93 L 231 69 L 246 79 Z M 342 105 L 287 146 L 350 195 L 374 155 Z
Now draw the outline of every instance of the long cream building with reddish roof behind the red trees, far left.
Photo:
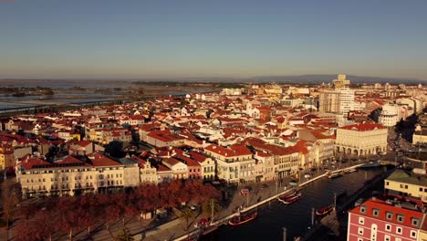
M 127 167 L 100 153 L 95 153 L 86 162 L 73 156 L 57 162 L 26 156 L 17 162 L 16 179 L 21 184 L 24 198 L 98 193 L 140 183 L 139 174 L 125 173 L 125 168 L 138 170 L 134 165 Z

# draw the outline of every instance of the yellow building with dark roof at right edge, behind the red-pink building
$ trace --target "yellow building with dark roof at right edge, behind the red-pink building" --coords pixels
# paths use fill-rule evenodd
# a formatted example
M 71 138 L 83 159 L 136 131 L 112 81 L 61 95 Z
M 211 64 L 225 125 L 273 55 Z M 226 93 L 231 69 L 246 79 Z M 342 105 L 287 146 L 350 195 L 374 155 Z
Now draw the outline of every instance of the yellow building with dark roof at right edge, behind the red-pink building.
M 415 169 L 415 172 L 417 169 Z M 384 189 L 389 194 L 409 195 L 427 202 L 427 176 L 425 171 L 410 173 L 397 169 L 384 181 Z

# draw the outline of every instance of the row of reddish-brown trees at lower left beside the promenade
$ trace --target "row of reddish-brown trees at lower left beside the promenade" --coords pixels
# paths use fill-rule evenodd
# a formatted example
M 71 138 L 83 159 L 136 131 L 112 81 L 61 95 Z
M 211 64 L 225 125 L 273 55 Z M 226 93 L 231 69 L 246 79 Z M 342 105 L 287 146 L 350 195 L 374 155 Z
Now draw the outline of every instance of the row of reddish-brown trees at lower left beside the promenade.
M 43 202 L 21 204 L 21 222 L 16 226 L 16 240 L 50 240 L 52 236 L 68 235 L 104 225 L 112 239 L 111 225 L 126 219 L 152 213 L 157 208 L 178 207 L 182 203 L 215 203 L 218 191 L 212 185 L 193 180 L 173 181 L 161 185 L 142 184 L 114 194 L 85 194 L 76 197 L 49 197 Z M 203 205 L 204 206 L 204 205 Z M 214 210 L 218 211 L 218 210 Z M 187 221 L 188 224 L 188 221 Z

